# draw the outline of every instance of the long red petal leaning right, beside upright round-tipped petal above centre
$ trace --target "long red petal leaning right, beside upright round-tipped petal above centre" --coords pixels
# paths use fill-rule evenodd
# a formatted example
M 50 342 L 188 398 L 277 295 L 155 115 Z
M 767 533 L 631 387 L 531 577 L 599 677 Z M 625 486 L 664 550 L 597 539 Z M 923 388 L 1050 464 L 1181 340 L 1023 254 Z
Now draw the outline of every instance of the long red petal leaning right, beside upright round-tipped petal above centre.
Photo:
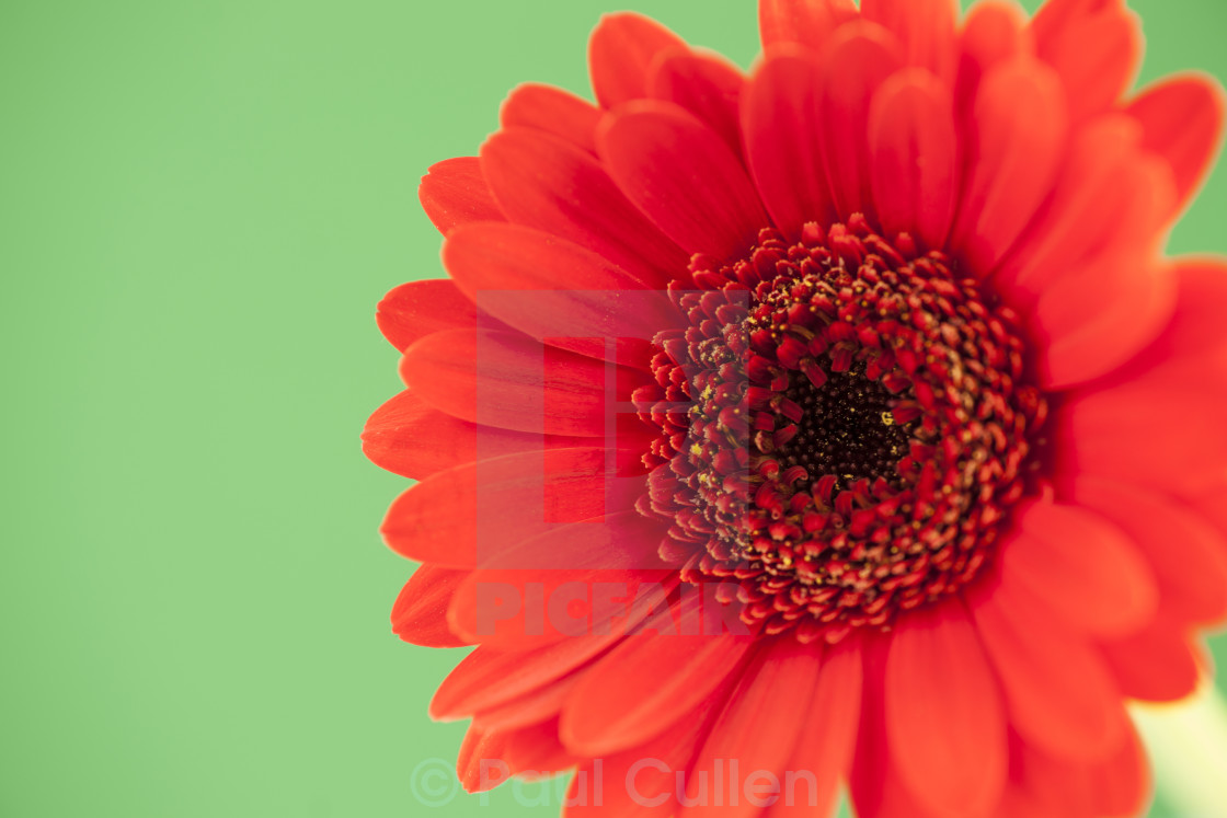
M 974 146 L 952 245 L 988 275 L 1052 190 L 1067 124 L 1056 75 L 1029 58 L 994 67 L 972 117 Z

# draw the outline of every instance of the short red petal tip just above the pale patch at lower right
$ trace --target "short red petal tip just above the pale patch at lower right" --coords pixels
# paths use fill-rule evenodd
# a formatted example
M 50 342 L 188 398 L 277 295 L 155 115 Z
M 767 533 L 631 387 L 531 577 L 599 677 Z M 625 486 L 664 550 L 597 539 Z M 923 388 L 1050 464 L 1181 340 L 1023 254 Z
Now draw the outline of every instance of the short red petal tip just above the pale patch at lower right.
M 1191 634 L 1173 622 L 1160 622 L 1102 645 L 1120 692 L 1141 701 L 1179 701 L 1201 681 Z

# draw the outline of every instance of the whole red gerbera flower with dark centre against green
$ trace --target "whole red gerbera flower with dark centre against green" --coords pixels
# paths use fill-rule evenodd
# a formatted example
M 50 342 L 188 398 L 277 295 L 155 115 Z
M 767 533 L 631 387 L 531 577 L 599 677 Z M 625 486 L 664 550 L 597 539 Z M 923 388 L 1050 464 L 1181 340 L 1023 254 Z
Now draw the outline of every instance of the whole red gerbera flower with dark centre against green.
M 421 481 L 395 632 L 479 645 L 431 710 L 460 775 L 1133 814 L 1124 703 L 1190 693 L 1227 613 L 1227 273 L 1161 256 L 1220 91 L 1125 97 L 1123 0 L 760 22 L 744 76 L 606 17 L 598 104 L 520 86 L 422 182 L 450 280 L 380 304 L 407 390 L 364 440 Z

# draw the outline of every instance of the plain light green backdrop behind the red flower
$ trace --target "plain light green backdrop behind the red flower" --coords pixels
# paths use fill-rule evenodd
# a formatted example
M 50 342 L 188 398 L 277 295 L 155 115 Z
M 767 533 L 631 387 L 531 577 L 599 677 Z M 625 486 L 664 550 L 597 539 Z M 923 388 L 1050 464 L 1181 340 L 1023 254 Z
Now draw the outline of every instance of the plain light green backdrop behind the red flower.
M 1222 0 L 1133 5 L 1144 78 L 1227 77 Z M 4 2 L 0 814 L 428 812 L 459 654 L 388 627 L 411 565 L 375 532 L 405 483 L 357 440 L 398 389 L 374 305 L 440 272 L 426 167 L 519 81 L 587 94 L 612 7 Z M 637 9 L 757 49 L 751 0 Z M 1172 250 L 1227 250 L 1225 212 L 1218 173 Z M 434 814 L 557 813 L 515 801 Z

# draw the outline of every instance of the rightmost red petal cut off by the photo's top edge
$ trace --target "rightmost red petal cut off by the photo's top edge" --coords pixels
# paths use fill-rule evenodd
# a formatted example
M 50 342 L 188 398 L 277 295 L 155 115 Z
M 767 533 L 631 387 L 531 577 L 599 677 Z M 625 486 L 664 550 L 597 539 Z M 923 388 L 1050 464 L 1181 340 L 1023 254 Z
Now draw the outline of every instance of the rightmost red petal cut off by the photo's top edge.
M 1141 61 L 1141 25 L 1121 0 L 1049 0 L 1031 32 L 1036 53 L 1060 72 L 1075 120 L 1110 108 Z

